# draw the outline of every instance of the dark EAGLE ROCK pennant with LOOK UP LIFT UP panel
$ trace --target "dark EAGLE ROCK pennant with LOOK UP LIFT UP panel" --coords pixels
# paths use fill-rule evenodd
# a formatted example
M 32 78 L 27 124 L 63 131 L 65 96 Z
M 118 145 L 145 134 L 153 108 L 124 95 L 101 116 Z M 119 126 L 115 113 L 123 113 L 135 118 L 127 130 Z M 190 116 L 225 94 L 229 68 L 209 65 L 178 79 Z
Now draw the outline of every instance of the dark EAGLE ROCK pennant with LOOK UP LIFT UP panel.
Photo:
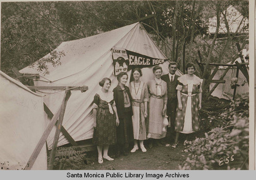
M 129 71 L 135 67 L 150 67 L 167 61 L 167 59 L 152 58 L 123 48 L 113 48 L 112 58 L 115 75 L 118 75 L 120 72 Z

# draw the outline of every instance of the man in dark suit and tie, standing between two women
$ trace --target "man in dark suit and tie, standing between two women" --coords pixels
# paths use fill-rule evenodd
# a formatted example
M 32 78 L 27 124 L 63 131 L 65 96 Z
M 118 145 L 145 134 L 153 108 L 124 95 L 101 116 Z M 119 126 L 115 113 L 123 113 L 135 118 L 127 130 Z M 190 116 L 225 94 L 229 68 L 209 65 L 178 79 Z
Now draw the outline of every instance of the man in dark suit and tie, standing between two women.
M 167 132 L 170 135 L 169 141 L 172 142 L 175 139 L 175 118 L 176 118 L 176 109 L 178 104 L 177 99 L 177 90 L 176 87 L 178 85 L 178 78 L 179 76 L 175 74 L 177 70 L 177 63 L 176 62 L 170 62 L 168 65 L 169 73 L 164 74 L 161 76 L 161 79 L 167 83 L 167 111 L 166 115 L 168 116 L 168 121 L 170 124 L 170 127 L 167 129 Z

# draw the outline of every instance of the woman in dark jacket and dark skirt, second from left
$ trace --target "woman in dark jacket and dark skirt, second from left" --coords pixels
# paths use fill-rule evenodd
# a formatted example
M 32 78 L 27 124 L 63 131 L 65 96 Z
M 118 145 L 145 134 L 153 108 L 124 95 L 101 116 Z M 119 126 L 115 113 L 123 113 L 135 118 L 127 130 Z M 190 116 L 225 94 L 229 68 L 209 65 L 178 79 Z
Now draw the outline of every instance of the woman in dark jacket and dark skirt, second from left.
M 133 142 L 133 123 L 132 123 L 132 96 L 127 83 L 128 74 L 121 72 L 117 75 L 118 85 L 113 89 L 114 100 L 116 102 L 119 126 L 117 127 L 118 151 L 122 151 L 127 156 L 129 143 Z

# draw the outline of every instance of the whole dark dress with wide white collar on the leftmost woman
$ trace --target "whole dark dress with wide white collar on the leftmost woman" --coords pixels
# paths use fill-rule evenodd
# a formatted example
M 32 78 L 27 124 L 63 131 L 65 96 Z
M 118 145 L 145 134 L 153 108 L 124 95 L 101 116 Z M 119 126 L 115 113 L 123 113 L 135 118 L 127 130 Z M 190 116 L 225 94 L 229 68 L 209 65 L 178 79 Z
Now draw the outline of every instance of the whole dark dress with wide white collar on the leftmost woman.
M 117 141 L 116 113 L 113 106 L 115 106 L 113 92 L 105 95 L 99 91 L 95 94 L 93 108 L 97 109 L 97 114 L 93 143 L 96 145 L 111 145 Z

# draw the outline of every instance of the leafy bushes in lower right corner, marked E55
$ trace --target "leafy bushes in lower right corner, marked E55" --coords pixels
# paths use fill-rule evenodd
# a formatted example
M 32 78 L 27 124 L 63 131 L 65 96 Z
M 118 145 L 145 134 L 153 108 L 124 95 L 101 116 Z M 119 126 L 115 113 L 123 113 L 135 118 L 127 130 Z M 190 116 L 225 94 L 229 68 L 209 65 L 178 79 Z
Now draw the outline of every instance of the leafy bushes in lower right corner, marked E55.
M 248 102 L 248 94 L 238 95 L 230 108 L 210 115 L 208 120 L 217 121 L 217 127 L 186 144 L 189 155 L 180 169 L 248 169 Z

